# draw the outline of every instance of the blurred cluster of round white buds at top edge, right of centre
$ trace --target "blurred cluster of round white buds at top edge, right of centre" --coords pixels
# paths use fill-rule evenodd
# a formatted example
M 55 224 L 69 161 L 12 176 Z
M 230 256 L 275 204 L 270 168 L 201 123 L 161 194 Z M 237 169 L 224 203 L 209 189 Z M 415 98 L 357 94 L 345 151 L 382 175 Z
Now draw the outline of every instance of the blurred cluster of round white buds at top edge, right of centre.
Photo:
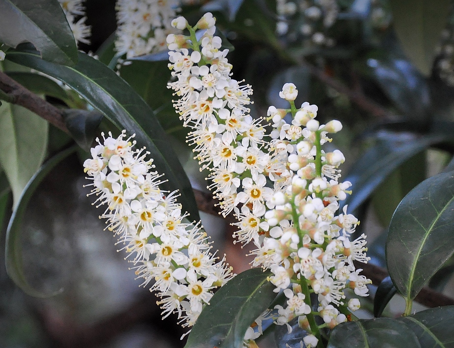
M 277 14 L 284 19 L 276 25 L 279 35 L 287 35 L 290 41 L 302 38 L 306 44 L 318 46 L 335 44 L 326 31 L 337 19 L 337 0 L 278 0 L 276 5 Z M 292 26 L 296 26 L 296 31 Z

